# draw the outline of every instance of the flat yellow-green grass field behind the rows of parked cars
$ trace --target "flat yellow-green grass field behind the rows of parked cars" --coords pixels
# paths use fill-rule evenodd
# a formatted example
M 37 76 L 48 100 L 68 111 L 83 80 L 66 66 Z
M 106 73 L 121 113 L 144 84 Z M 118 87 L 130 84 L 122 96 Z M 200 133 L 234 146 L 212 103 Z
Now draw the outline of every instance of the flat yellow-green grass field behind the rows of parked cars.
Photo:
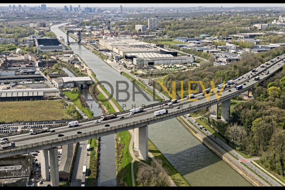
M 0 102 L 0 122 L 72 119 L 63 100 Z

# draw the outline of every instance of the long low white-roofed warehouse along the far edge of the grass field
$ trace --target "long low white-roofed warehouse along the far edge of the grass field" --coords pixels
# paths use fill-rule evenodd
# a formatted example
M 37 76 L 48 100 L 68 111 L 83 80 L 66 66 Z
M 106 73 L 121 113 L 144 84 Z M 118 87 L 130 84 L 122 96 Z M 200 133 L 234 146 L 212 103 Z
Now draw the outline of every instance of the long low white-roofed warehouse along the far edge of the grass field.
M 56 88 L 43 89 L 11 89 L 1 90 L 1 101 L 17 101 L 17 100 L 42 100 L 44 97 L 58 97 L 59 91 Z

